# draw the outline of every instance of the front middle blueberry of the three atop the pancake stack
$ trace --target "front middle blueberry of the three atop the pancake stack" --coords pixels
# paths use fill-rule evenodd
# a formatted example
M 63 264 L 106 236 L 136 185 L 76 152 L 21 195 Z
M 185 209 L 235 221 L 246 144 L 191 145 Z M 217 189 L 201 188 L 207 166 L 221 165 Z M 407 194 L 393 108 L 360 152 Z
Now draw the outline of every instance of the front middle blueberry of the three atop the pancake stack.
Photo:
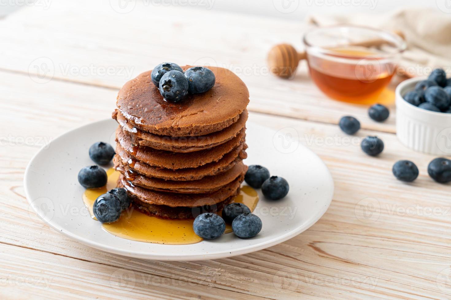
M 160 94 L 170 102 L 179 102 L 188 94 L 188 80 L 180 71 L 169 71 L 160 80 Z

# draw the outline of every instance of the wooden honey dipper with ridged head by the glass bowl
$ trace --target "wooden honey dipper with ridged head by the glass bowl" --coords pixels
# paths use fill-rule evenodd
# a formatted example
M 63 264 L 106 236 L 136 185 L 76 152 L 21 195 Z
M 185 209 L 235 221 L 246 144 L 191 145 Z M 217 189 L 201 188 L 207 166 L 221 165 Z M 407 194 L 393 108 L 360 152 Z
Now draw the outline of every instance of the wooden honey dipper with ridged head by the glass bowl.
M 394 31 L 403 40 L 405 36 L 400 31 Z M 387 40 L 367 40 L 358 43 L 350 43 L 346 46 L 362 46 L 362 47 L 377 47 L 383 44 L 390 44 Z M 273 75 L 291 78 L 299 65 L 299 61 L 306 59 L 307 53 L 296 51 L 295 47 L 289 44 L 279 44 L 274 46 L 268 53 L 268 66 Z

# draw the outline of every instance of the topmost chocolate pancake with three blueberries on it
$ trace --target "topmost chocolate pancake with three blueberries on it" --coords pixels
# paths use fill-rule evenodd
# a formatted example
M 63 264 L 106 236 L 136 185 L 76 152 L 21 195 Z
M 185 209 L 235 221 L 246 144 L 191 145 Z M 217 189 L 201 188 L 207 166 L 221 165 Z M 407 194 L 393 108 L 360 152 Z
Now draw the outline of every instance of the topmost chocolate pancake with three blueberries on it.
M 249 103 L 249 91 L 230 70 L 208 68 L 216 83 L 205 93 L 189 94 L 179 103 L 167 102 L 152 84 L 151 70 L 120 89 L 117 107 L 133 126 L 153 134 L 199 136 L 222 130 L 239 119 Z

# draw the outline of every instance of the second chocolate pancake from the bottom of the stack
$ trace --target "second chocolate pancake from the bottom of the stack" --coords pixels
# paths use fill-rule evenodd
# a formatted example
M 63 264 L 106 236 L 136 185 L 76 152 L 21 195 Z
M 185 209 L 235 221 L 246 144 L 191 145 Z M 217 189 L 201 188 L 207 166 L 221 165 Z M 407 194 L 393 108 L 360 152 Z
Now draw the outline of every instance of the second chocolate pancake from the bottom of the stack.
M 234 196 L 239 190 L 241 183 L 244 180 L 244 173 L 239 175 L 238 178 L 221 187 L 217 191 L 211 193 L 200 194 L 179 194 L 168 192 L 157 192 L 146 188 L 134 186 L 131 184 L 124 175 L 119 176 L 122 185 L 125 189 L 134 196 L 140 198 L 149 204 L 166 205 L 171 207 L 185 206 L 185 207 L 198 207 L 204 205 L 215 205 L 222 202 L 227 198 Z

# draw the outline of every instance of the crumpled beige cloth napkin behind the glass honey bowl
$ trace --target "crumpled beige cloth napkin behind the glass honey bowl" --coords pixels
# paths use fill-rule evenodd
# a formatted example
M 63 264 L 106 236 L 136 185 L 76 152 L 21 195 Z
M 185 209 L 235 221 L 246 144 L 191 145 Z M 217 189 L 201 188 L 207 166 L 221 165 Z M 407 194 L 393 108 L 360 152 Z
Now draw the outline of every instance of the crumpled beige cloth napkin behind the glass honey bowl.
M 315 26 L 352 24 L 388 31 L 401 31 L 407 49 L 400 67 L 408 76 L 428 75 L 443 67 L 451 75 L 451 14 L 434 9 L 401 9 L 383 14 L 314 14 L 307 19 Z

